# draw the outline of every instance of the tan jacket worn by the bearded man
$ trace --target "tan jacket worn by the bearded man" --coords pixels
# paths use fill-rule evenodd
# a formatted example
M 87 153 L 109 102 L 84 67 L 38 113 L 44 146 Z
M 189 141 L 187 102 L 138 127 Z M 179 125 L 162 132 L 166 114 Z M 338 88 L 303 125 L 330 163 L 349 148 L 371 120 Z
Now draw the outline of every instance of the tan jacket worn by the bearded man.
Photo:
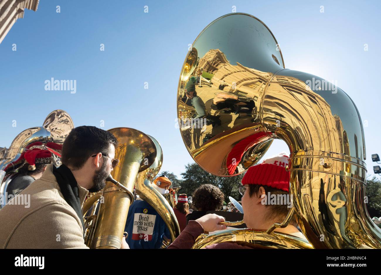
M 88 191 L 78 185 L 81 207 Z M 30 195 L 29 208 L 0 210 L 0 248 L 87 248 L 80 218 L 64 200 L 53 165 L 19 195 Z

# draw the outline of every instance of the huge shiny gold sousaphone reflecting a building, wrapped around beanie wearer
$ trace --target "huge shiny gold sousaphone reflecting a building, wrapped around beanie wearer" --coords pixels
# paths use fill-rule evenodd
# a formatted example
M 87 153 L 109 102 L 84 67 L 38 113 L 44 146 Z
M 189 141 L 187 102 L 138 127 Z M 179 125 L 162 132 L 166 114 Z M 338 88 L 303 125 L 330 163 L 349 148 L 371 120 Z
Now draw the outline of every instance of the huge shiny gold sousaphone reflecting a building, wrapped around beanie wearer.
M 202 235 L 195 248 L 221 241 L 274 248 L 381 248 L 381 230 L 364 203 L 365 141 L 351 98 L 320 77 L 285 69 L 274 35 L 249 14 L 216 19 L 192 46 L 179 79 L 178 118 L 184 106 L 192 105 L 183 96 L 189 77 L 203 70 L 212 86 L 195 87 L 209 115 L 200 120 L 206 130 L 196 123 L 190 133 L 181 131 L 187 150 L 209 173 L 234 176 L 255 165 L 272 139 L 282 139 L 290 149 L 293 198 L 282 224 Z M 218 119 L 221 123 L 208 125 Z M 274 232 L 293 216 L 311 245 Z

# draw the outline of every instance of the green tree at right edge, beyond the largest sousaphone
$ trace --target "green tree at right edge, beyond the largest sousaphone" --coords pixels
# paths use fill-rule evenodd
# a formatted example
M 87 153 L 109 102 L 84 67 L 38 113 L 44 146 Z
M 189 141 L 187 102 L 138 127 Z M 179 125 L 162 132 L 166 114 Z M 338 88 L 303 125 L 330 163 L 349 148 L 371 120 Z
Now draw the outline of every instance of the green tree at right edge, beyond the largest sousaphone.
M 370 217 L 381 217 L 381 181 L 375 176 L 367 179 L 365 195 L 368 197 L 366 205 Z

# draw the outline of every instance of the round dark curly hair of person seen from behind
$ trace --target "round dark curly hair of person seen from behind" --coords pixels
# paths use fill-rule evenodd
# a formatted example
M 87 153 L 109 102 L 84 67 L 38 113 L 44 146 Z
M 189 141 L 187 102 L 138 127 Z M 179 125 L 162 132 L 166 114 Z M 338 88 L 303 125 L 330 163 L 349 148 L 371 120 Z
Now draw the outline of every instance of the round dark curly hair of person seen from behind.
M 199 211 L 220 210 L 224 202 L 224 193 L 211 184 L 203 184 L 195 190 L 192 205 Z

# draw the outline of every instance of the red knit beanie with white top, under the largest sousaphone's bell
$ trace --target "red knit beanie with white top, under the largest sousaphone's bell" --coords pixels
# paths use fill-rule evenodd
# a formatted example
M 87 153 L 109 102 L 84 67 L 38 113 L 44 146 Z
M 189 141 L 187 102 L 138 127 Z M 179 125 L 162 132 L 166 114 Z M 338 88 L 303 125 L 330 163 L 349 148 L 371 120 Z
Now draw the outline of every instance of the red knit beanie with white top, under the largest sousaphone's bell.
M 280 153 L 267 158 L 261 164 L 251 166 L 242 178 L 242 184 L 266 185 L 288 191 L 290 188 L 290 172 L 286 170 L 288 156 Z

